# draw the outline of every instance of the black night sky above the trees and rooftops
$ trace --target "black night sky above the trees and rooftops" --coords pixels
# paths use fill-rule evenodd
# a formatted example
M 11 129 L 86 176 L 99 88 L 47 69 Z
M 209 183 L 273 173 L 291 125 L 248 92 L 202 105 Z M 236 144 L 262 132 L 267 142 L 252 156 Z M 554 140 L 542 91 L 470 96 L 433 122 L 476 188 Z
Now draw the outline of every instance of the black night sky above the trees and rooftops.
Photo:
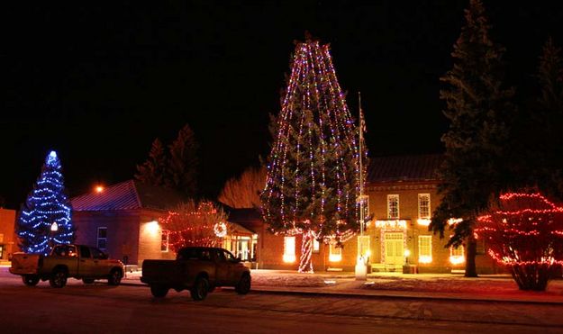
M 14 209 L 50 149 L 76 195 L 132 178 L 152 140 L 185 123 L 200 145 L 200 193 L 215 198 L 268 155 L 268 113 L 305 30 L 331 43 L 354 113 L 361 91 L 371 156 L 440 152 L 439 77 L 468 1 L 40 4 L 0 8 L 0 196 Z M 563 45 L 563 3 L 485 5 L 522 98 L 544 41 Z

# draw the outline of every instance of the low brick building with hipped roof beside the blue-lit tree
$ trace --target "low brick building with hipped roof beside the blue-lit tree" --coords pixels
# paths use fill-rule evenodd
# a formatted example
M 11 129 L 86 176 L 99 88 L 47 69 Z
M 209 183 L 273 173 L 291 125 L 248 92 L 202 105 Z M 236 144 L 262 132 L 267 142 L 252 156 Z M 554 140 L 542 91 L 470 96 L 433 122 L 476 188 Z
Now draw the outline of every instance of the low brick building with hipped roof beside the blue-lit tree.
M 76 242 L 132 265 L 145 258 L 175 258 L 158 221 L 184 199 L 173 190 L 133 180 L 79 195 L 71 199 Z

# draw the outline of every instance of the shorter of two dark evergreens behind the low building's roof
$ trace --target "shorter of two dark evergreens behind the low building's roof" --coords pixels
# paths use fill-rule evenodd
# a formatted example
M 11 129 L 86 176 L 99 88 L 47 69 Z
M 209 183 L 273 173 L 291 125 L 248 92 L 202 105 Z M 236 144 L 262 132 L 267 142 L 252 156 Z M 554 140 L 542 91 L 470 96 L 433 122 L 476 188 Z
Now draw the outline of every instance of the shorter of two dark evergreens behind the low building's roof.
M 135 179 L 147 185 L 164 185 L 166 179 L 166 155 L 162 142 L 157 138 L 150 147 L 149 158 L 137 165 Z

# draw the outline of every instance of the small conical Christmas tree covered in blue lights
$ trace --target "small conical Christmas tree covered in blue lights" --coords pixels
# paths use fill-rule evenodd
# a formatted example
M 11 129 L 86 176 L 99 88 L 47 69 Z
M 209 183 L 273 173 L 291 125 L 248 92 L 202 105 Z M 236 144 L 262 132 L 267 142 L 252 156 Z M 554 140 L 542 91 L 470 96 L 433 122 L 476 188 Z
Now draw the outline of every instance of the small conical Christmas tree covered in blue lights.
M 48 254 L 55 244 L 73 242 L 75 229 L 70 211 L 60 160 L 51 151 L 18 217 L 20 248 L 26 253 Z

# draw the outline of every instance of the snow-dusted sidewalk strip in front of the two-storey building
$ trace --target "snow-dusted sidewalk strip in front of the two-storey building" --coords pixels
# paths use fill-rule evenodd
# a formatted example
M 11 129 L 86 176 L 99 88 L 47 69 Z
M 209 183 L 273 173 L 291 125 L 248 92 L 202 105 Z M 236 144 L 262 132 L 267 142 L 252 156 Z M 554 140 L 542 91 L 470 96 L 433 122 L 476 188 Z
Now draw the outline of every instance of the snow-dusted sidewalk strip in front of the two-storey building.
M 459 300 L 563 305 L 563 280 L 553 280 L 544 293 L 520 291 L 510 275 L 403 275 L 377 273 L 357 281 L 353 273 L 298 274 L 294 271 L 252 270 L 252 292 L 332 295 L 348 298 Z M 122 284 L 145 285 L 141 272 L 127 273 Z

